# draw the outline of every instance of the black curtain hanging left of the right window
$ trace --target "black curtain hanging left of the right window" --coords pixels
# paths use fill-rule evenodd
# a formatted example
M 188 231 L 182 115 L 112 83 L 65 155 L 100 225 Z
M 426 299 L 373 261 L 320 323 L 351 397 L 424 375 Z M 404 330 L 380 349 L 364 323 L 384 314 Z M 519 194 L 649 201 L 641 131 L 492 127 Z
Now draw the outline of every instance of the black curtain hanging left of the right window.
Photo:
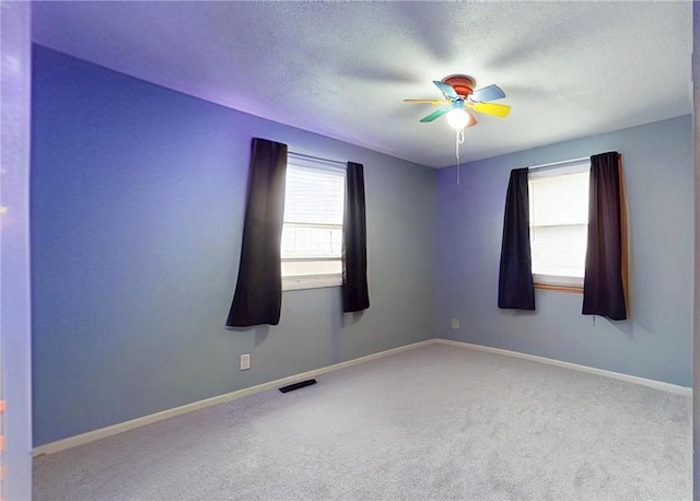
M 499 273 L 499 307 L 535 310 L 527 167 L 511 171 L 508 185 Z

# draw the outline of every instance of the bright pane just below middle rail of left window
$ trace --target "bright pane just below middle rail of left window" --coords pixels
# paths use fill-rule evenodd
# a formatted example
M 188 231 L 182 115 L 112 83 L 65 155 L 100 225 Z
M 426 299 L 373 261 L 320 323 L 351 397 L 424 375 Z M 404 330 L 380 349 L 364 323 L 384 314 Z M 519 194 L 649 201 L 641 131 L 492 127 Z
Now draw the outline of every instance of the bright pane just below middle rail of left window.
M 340 257 L 342 226 L 312 226 L 284 223 L 282 258 Z

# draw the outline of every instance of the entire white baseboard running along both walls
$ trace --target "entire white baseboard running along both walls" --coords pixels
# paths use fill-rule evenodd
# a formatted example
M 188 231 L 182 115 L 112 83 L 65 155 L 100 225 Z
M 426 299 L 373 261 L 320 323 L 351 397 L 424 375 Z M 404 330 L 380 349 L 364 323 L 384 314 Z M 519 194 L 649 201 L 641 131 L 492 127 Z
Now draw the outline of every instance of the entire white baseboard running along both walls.
M 515 357 L 518 359 L 530 360 L 534 362 L 547 363 L 550 365 L 558 365 L 560 368 L 572 369 L 574 371 L 581 371 L 581 372 L 587 372 L 591 374 L 602 375 L 605 377 L 612 377 L 615 380 L 627 381 L 629 383 L 641 384 L 644 386 L 650 386 L 652 388 L 661 389 L 663 392 L 668 392 L 677 395 L 684 395 L 684 396 L 692 395 L 692 388 L 678 386 L 675 384 L 662 383 L 660 381 L 646 380 L 644 377 L 637 377 L 628 374 L 621 374 L 619 372 L 590 368 L 586 365 L 579 365 L 576 363 L 571 363 L 571 362 L 562 362 L 560 360 L 547 359 L 545 357 L 537 357 L 534 354 L 521 353 L 518 351 L 510 351 L 501 348 L 491 348 L 488 346 L 472 345 L 472 343 L 463 342 L 463 341 L 453 341 L 451 339 L 433 338 L 427 341 L 415 342 L 412 345 L 406 345 L 398 348 L 393 348 L 390 350 L 381 351 L 378 353 L 368 354 L 366 357 L 360 357 L 359 359 L 348 360 L 346 362 L 327 365 L 325 368 L 315 369 L 313 371 L 303 372 L 301 374 L 282 377 L 281 380 L 270 381 L 269 383 L 262 383 L 256 386 L 250 386 L 249 388 L 237 389 L 235 392 L 226 393 L 224 395 L 219 395 L 212 398 L 207 398 L 205 400 L 194 401 L 191 404 L 187 404 L 180 407 L 175 407 L 173 409 L 163 410 L 161 412 L 155 412 L 149 416 L 143 416 L 141 418 L 131 419 L 129 421 L 113 424 L 110 427 L 101 428 L 94 431 L 89 431 L 88 433 L 81 433 L 79 435 L 69 436 L 68 439 L 58 440 L 56 442 L 50 442 L 50 443 L 34 447 L 34 450 L 32 451 L 32 455 L 36 457 L 43 454 L 52 454 L 59 451 L 74 447 L 77 445 L 86 444 L 89 442 L 94 442 L 95 440 L 105 439 L 107 436 L 116 435 L 117 433 L 121 433 L 125 431 L 133 430 L 136 428 L 144 427 L 147 424 L 151 424 L 158 421 L 162 421 L 163 419 L 174 418 L 175 416 L 179 416 L 186 412 L 191 412 L 198 409 L 203 409 L 206 407 L 215 406 L 219 404 L 225 404 L 225 403 L 245 397 L 247 395 L 253 395 L 253 394 L 265 392 L 268 389 L 279 388 L 280 386 L 298 383 L 300 381 L 308 380 L 322 374 L 326 374 L 328 372 L 337 371 L 339 369 L 349 368 L 351 365 L 357 365 L 359 363 L 369 362 L 370 360 L 381 359 L 383 357 L 388 357 L 390 354 L 399 353 L 401 351 L 412 350 L 415 348 L 420 348 L 422 346 L 433 345 L 433 343 L 451 345 L 451 346 L 457 346 L 457 347 L 468 348 L 472 350 L 489 351 L 491 353 L 503 354 L 506 357 Z

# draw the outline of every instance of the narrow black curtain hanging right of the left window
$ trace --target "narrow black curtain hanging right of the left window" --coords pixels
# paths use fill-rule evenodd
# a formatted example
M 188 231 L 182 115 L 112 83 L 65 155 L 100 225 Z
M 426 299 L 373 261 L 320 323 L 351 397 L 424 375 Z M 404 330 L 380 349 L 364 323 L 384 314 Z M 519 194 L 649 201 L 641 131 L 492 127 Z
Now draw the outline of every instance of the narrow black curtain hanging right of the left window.
M 348 162 L 346 209 L 342 221 L 342 311 L 370 307 L 368 292 L 368 234 L 364 210 L 364 168 Z

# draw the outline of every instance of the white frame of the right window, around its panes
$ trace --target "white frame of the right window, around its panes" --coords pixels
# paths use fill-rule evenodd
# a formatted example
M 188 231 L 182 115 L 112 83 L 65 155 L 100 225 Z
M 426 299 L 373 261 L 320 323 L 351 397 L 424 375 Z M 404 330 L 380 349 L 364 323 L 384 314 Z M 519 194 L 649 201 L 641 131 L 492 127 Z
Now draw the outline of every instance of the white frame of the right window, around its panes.
M 564 162 L 562 164 L 546 166 L 540 168 L 533 168 L 528 171 L 528 190 L 532 188 L 532 179 L 544 178 L 544 177 L 559 177 L 565 176 L 575 173 L 591 173 L 591 161 L 586 160 L 573 160 L 571 162 Z M 528 195 L 532 197 L 532 194 Z M 533 202 L 529 202 L 532 208 Z M 586 209 L 587 211 L 587 209 Z M 529 241 L 530 241 L 530 253 L 533 252 L 533 231 L 532 229 L 537 225 L 532 224 L 533 214 L 530 211 L 530 220 L 528 222 L 529 229 Z M 588 222 L 586 222 L 586 225 Z M 562 224 L 563 225 L 563 224 Z M 539 225 L 540 228 L 542 225 Z M 586 231 L 586 247 L 587 247 L 587 231 Z M 535 289 L 540 290 L 549 290 L 549 291 L 558 291 L 558 292 L 571 292 L 583 294 L 583 282 L 585 279 L 585 263 L 584 263 L 584 276 L 583 277 L 574 277 L 574 276 L 564 276 L 564 275 L 548 275 L 548 273 L 536 273 L 533 272 L 533 284 Z

